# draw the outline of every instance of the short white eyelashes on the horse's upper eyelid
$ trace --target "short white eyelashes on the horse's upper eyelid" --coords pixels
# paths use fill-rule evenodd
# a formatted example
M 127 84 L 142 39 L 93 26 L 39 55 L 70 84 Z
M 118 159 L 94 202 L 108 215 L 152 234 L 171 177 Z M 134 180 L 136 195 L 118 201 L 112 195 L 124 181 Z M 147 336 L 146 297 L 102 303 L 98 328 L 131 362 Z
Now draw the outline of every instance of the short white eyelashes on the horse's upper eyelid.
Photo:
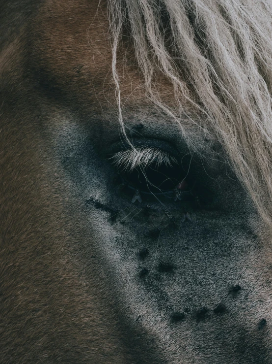
M 115 153 L 110 159 L 117 168 L 125 171 L 132 171 L 136 167 L 145 169 L 148 165 L 156 162 L 156 166 L 161 164 L 172 166 L 172 163 L 178 163 L 177 160 L 170 156 L 167 152 L 154 147 L 139 147 L 127 149 Z

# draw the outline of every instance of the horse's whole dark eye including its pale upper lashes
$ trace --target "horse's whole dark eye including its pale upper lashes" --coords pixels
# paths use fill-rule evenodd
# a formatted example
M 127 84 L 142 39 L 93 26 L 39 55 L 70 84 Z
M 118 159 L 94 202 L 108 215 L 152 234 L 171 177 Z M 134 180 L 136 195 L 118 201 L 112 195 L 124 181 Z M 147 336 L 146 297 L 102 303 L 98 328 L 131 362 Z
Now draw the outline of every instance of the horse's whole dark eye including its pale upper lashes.
M 202 185 L 191 168 L 190 155 L 178 162 L 162 149 L 142 146 L 121 150 L 109 160 L 117 172 L 116 191 L 132 203 L 160 202 L 165 208 L 172 201 L 183 210 L 197 210 L 213 203 L 212 191 Z

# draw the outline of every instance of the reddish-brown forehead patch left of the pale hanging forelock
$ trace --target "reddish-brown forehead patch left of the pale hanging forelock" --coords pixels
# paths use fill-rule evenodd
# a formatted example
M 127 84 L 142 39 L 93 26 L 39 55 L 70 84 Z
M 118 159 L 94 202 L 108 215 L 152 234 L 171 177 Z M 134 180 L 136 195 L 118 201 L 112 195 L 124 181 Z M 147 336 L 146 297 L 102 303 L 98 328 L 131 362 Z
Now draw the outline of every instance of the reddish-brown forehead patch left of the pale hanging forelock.
M 47 1 L 39 13 L 34 48 L 43 66 L 60 82 L 72 80 L 82 97 L 95 94 L 106 102 L 114 86 L 105 1 Z M 127 81 L 130 89 L 134 78 Z

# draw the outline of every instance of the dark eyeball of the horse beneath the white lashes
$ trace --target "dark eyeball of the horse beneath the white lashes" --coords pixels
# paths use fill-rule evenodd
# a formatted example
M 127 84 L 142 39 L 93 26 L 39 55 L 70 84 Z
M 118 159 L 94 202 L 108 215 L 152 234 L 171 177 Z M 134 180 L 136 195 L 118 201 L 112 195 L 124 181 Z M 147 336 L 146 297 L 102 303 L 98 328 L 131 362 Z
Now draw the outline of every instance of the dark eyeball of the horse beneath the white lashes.
M 125 172 L 123 176 L 135 189 L 158 194 L 177 188 L 186 173 L 178 165 L 157 165 L 153 162 L 144 171 L 137 167 L 131 172 Z

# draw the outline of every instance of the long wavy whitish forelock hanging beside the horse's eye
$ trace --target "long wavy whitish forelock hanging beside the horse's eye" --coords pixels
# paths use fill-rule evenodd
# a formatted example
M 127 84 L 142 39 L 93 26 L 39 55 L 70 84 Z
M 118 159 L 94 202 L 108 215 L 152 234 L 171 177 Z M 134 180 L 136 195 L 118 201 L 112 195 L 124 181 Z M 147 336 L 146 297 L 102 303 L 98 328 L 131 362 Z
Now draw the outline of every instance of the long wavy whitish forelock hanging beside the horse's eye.
M 200 127 L 217 133 L 271 224 L 272 1 L 109 0 L 108 11 L 123 132 L 116 60 L 126 27 L 148 98 L 178 123 L 185 104 L 197 109 Z M 171 82 L 178 107 L 160 98 L 158 71 Z

